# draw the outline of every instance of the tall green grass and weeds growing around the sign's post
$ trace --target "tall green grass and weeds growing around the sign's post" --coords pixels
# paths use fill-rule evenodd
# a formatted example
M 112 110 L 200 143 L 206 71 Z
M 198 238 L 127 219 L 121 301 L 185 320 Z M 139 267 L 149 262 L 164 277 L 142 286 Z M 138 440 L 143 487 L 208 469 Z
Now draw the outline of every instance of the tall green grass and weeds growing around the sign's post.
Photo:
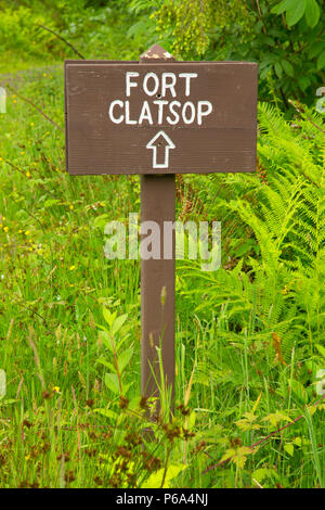
M 62 66 L 21 75 L 11 85 L 64 126 Z M 245 250 L 256 260 L 260 244 L 255 226 L 224 200 L 229 190 L 238 201 L 251 190 L 260 193 L 258 176 L 178 180 L 179 218 L 205 219 L 202 203 L 212 207 L 218 196 L 210 214 L 223 222 L 223 269 L 206 275 L 178 263 L 176 419 L 154 423 L 150 441 L 141 436 L 147 421 L 140 403 L 140 266 L 103 256 L 105 224 L 139 211 L 139 177 L 69 177 L 63 132 L 14 93 L 0 129 L 0 369 L 8 380 L 0 400 L 0 486 L 155 487 L 164 477 L 173 487 L 321 486 L 325 406 L 312 407 L 311 364 L 324 367 L 313 346 L 323 342 L 322 332 L 302 316 L 298 291 L 297 317 L 310 334 L 299 320 L 283 326 L 291 319 L 281 314 L 298 297 L 284 291 L 292 277 L 286 282 L 281 267 L 272 273 L 276 282 L 270 267 L 265 285 L 274 285 L 274 294 L 270 286 L 261 313 L 261 294 L 245 280 L 249 267 L 235 275 L 242 241 L 249 240 Z M 260 157 L 268 143 L 263 135 Z M 316 285 L 316 273 L 312 278 Z M 235 290 L 242 279 L 247 295 L 242 284 Z M 286 293 L 274 319 L 273 305 Z M 104 317 L 103 308 L 110 315 Z M 283 341 L 280 349 L 272 331 Z M 105 374 L 118 370 L 121 393 L 114 378 L 105 384 Z M 300 415 L 306 419 L 290 421 Z

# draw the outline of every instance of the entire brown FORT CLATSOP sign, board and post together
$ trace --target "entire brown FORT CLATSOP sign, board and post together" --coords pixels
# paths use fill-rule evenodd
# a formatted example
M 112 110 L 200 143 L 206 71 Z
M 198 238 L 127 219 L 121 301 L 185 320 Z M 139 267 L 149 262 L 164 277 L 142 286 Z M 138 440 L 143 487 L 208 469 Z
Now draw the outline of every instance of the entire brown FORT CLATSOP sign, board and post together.
M 173 399 L 176 174 L 255 171 L 257 64 L 176 62 L 158 44 L 139 62 L 66 61 L 65 114 L 70 175 L 141 175 L 141 221 L 160 227 L 162 254 L 141 260 L 142 394 L 158 396 L 161 347 Z

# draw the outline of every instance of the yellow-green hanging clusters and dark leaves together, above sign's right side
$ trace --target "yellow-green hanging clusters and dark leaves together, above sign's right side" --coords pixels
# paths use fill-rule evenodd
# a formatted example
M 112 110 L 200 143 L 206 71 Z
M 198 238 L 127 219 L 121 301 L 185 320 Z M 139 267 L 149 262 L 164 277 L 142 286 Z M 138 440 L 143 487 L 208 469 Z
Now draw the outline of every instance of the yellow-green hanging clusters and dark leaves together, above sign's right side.
M 168 0 L 152 17 L 177 56 L 258 62 L 261 99 L 271 80 L 286 106 L 288 98 L 311 104 L 325 66 L 324 9 L 316 0 L 275 3 Z

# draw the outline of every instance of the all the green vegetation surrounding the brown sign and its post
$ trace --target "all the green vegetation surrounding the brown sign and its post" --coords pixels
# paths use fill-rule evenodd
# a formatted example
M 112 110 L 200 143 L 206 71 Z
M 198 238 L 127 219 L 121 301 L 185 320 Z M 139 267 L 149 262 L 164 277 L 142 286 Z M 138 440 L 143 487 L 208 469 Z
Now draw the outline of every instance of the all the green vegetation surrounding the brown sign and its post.
M 325 486 L 322 8 L 0 0 L 1 487 Z M 256 174 L 178 176 L 178 218 L 222 222 L 222 268 L 178 263 L 176 417 L 147 441 L 139 264 L 103 256 L 139 177 L 65 173 L 63 60 L 157 40 L 258 62 L 260 103 Z

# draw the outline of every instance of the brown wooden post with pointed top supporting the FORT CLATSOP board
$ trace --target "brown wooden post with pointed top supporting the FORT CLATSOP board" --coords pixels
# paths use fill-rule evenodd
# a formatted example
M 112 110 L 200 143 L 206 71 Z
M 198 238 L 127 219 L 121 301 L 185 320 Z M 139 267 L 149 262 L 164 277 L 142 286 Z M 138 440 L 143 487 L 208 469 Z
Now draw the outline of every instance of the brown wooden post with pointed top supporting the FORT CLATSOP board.
M 155 44 L 140 58 L 140 64 L 174 62 Z M 174 397 L 174 232 L 172 258 L 164 259 L 164 222 L 176 219 L 176 176 L 141 176 L 141 221 L 156 221 L 160 228 L 160 259 L 141 260 L 141 388 L 142 395 L 158 397 L 161 347 L 166 387 Z M 155 377 L 153 375 L 153 372 Z M 155 381 L 156 379 L 156 381 Z M 159 409 L 160 405 L 158 406 Z

